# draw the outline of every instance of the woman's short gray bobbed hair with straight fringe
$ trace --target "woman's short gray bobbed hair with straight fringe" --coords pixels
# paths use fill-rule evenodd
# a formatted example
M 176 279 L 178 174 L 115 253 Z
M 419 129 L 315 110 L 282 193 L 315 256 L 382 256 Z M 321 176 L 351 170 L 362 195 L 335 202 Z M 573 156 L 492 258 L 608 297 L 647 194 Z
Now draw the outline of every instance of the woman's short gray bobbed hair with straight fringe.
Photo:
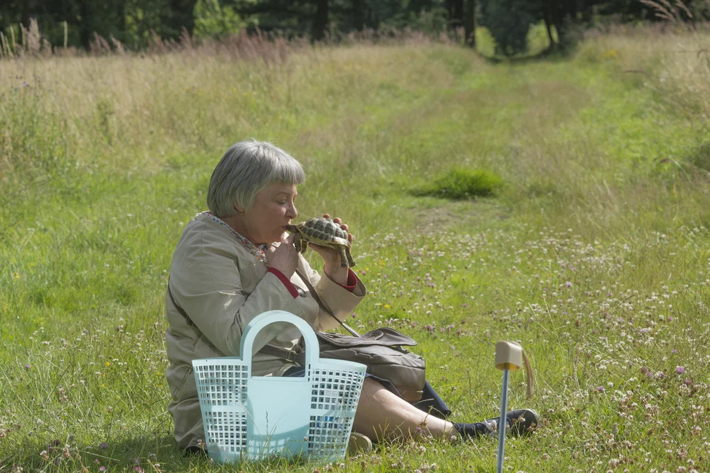
M 269 184 L 305 181 L 301 164 L 266 141 L 234 143 L 217 163 L 207 190 L 207 207 L 216 217 L 236 214 L 235 205 L 250 210 L 256 194 Z

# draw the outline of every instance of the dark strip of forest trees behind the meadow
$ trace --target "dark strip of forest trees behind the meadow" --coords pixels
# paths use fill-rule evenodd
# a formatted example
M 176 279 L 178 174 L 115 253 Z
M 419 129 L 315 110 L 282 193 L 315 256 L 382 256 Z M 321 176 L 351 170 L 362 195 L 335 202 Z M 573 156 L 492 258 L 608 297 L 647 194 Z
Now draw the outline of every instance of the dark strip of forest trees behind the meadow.
M 575 43 L 599 23 L 710 19 L 710 2 L 692 0 L 9 0 L 0 4 L 0 52 L 142 50 L 180 38 L 269 36 L 338 40 L 354 32 L 410 29 L 445 33 L 475 47 L 476 26 L 496 53 L 525 53 L 530 26 L 544 24 L 550 45 Z

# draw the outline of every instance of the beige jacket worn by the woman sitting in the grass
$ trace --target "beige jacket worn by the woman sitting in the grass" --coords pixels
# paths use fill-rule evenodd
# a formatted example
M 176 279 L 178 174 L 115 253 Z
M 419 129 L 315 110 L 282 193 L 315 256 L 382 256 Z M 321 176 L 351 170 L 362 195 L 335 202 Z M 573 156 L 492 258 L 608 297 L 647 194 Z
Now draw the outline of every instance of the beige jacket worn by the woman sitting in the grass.
M 298 268 L 312 284 L 322 303 L 339 320 L 351 314 L 366 294 L 357 281 L 349 292 L 319 275 L 299 256 Z M 267 310 L 286 310 L 302 317 L 314 330 L 329 330 L 338 323 L 320 310 L 305 284 L 294 273 L 290 279 L 302 291 L 296 298 L 278 276 L 253 256 L 228 228 L 209 216 L 198 214 L 182 232 L 170 266 L 170 292 L 194 325 L 175 308 L 165 294 L 168 330 L 165 342 L 170 367 L 165 372 L 172 401 L 168 411 L 175 420 L 175 440 L 185 448 L 204 440 L 202 414 L 197 399 L 192 359 L 239 356 L 244 327 Z M 293 349 L 300 332 L 290 324 L 268 325 L 254 342 L 252 372 L 256 376 L 280 376 L 290 366 L 283 359 L 256 353 L 265 344 Z

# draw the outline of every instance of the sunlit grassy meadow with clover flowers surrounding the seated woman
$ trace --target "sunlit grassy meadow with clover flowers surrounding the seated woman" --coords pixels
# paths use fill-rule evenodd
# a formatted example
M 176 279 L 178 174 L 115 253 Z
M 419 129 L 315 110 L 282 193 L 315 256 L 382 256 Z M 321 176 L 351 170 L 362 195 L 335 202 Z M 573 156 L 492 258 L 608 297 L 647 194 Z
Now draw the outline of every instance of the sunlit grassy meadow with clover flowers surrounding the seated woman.
M 671 26 L 492 62 L 416 36 L 0 61 L 0 472 L 233 471 L 166 410 L 165 283 L 232 143 L 303 163 L 369 295 L 452 420 L 498 413 L 518 340 L 542 423 L 510 472 L 710 472 L 710 45 Z M 485 44 L 483 46 L 485 48 Z M 451 170 L 493 195 L 421 195 Z M 317 267 L 314 254 L 307 254 Z M 493 471 L 496 439 L 245 472 Z

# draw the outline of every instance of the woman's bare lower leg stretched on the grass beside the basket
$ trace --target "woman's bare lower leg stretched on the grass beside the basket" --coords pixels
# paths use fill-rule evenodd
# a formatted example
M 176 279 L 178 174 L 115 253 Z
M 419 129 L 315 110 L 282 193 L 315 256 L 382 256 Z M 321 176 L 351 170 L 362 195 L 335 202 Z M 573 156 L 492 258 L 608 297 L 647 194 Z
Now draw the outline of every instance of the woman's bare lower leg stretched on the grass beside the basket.
M 419 435 L 457 437 L 454 424 L 420 411 L 368 378 L 360 393 L 354 430 L 372 440 L 416 438 Z

